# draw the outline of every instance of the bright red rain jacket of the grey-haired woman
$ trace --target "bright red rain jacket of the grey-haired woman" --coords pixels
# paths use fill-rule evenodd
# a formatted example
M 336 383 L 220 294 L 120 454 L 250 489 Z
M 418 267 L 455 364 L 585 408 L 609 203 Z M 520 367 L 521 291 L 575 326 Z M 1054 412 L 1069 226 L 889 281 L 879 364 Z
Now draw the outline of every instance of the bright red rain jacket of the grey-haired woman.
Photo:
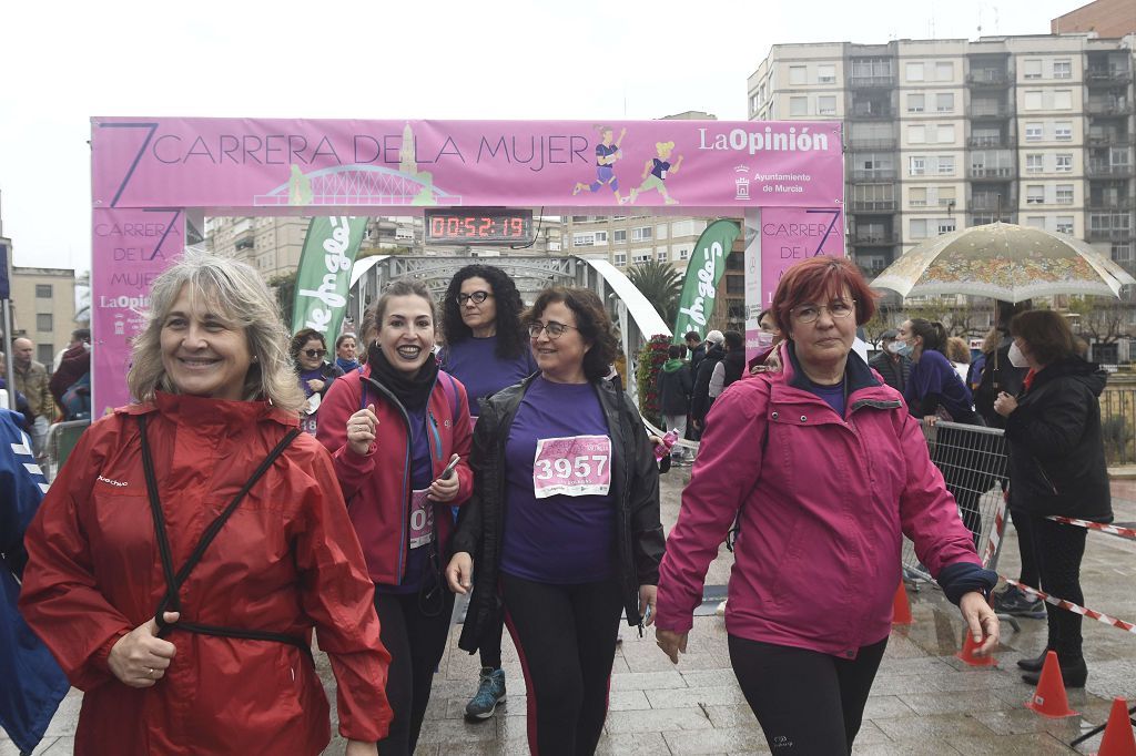
M 142 471 L 147 413 L 166 528 L 179 569 L 202 531 L 295 418 L 266 402 L 158 394 L 83 434 L 27 531 L 20 610 L 85 691 L 75 753 L 318 754 L 328 705 L 311 658 L 274 641 L 173 630 L 166 675 L 118 681 L 111 646 L 153 618 L 166 581 Z M 319 629 L 339 686 L 340 732 L 386 734 L 390 654 L 331 460 L 301 434 L 245 496 L 181 590 L 182 616 L 284 632 Z M 176 627 L 176 625 L 175 625 Z

